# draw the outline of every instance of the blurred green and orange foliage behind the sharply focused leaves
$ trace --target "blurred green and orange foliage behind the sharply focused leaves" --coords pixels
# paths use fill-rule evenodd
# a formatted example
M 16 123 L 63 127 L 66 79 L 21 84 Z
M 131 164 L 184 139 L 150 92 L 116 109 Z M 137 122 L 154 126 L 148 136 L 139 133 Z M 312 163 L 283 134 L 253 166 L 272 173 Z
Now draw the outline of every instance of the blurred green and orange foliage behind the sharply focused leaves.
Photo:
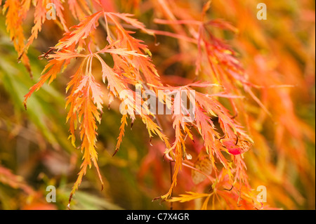
M 315 1 L 264 1 L 268 20 L 257 20 L 253 0 L 213 0 L 209 18 L 222 18 L 239 29 L 238 34 L 213 29 L 238 53 L 249 80 L 264 85 L 294 84 L 282 91 L 258 90 L 256 95 L 272 114 L 249 106 L 248 131 L 255 147 L 245 157 L 251 185 L 265 185 L 268 203 L 283 209 L 315 209 Z M 170 1 L 175 13 L 199 18 L 204 1 Z M 166 29 L 152 22 L 159 18 L 154 1 L 115 1 L 119 12 L 133 13 L 150 29 Z M 177 11 L 177 12 L 176 12 Z M 32 14 L 32 13 L 30 13 Z M 25 23 L 26 37 L 32 15 Z M 73 21 L 73 25 L 76 24 Z M 154 64 L 169 84 L 185 84 L 195 78 L 190 53 L 181 55 L 170 37 L 137 34 L 149 45 Z M 39 79 L 46 60 L 38 56 L 62 37 L 58 24 L 47 21 L 28 56 L 34 78 L 18 63 L 18 56 L 0 16 L 0 209 L 66 209 L 71 187 L 81 164 L 81 152 L 67 140 L 65 86 L 72 75 L 67 68 L 50 86 L 32 95 L 27 111 L 23 96 Z M 157 44 L 159 43 L 159 45 Z M 181 55 L 183 63 L 173 60 Z M 185 58 L 186 57 L 186 58 Z M 172 74 L 172 75 L 171 75 Z M 176 78 L 177 77 L 177 78 Z M 105 88 L 105 87 L 104 87 Z M 290 97 L 290 98 L 288 98 Z M 250 99 L 249 99 L 250 100 Z M 223 102 L 225 103 L 225 102 Z M 98 164 L 105 189 L 95 169 L 90 169 L 73 201 L 73 209 L 168 209 L 169 204 L 152 202 L 169 190 L 169 162 L 164 162 L 164 145 L 147 137 L 136 120 L 126 129 L 119 153 L 112 157 L 119 134 L 118 105 L 105 110 L 98 129 Z M 105 107 L 106 108 L 106 107 Z M 292 110 L 293 109 L 293 110 Z M 251 131 L 252 130 L 252 131 Z M 176 192 L 195 187 L 190 172 L 183 171 Z M 185 178 L 186 177 L 186 178 Z M 46 202 L 46 187 L 57 188 L 57 202 Z M 199 209 L 201 202 L 174 204 L 175 209 Z

